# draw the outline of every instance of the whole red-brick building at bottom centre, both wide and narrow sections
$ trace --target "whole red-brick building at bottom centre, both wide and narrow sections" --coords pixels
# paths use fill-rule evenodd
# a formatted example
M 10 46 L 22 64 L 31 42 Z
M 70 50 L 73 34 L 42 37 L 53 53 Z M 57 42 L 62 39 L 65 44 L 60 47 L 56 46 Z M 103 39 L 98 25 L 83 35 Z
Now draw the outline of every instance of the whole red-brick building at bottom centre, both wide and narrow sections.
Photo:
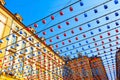
M 108 80 L 100 57 L 80 56 L 66 62 L 64 80 Z

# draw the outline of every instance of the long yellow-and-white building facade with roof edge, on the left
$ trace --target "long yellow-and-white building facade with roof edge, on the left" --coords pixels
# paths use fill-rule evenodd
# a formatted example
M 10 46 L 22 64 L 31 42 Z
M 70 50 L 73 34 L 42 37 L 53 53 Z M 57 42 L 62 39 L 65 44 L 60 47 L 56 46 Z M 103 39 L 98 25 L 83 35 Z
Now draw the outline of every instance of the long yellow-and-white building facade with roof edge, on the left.
M 63 80 L 64 61 L 0 0 L 0 80 Z

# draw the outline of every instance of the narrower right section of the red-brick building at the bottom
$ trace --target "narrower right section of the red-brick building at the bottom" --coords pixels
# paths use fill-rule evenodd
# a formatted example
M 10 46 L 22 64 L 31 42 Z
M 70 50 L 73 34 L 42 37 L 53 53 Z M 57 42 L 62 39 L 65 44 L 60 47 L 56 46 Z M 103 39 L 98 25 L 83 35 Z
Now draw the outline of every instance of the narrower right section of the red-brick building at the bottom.
M 93 80 L 108 80 L 102 59 L 100 57 L 90 58 Z

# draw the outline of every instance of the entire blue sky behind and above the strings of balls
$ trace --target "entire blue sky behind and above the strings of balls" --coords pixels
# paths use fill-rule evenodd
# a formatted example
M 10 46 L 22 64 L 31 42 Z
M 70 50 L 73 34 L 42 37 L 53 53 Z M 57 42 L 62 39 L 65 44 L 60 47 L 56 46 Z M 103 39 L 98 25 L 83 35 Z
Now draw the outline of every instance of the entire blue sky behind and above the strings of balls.
M 6 7 L 12 12 L 12 13 L 19 13 L 20 15 L 22 15 L 24 21 L 23 23 L 27 26 L 49 14 L 51 14 L 52 12 L 55 12 L 65 6 L 67 6 L 68 4 L 71 4 L 73 2 L 75 2 L 77 0 L 6 0 Z M 105 47 L 109 47 L 108 43 L 108 39 L 110 38 L 112 41 L 111 42 L 112 45 L 118 46 L 115 44 L 115 40 L 116 40 L 116 36 L 118 33 L 115 32 L 116 29 L 118 29 L 118 25 L 116 25 L 117 23 L 120 23 L 120 21 L 114 21 L 119 19 L 119 15 L 115 16 L 115 14 L 120 14 L 120 10 L 119 6 L 120 4 L 115 4 L 114 0 L 109 1 L 109 0 L 83 0 L 82 1 L 84 3 L 83 6 L 80 6 L 80 3 L 77 3 L 75 5 L 73 5 L 72 7 L 74 8 L 74 10 L 72 12 L 69 11 L 69 8 L 64 9 L 64 16 L 60 16 L 59 13 L 54 14 L 55 16 L 55 20 L 51 20 L 50 17 L 46 18 L 46 24 L 42 24 L 41 21 L 37 22 L 38 24 L 38 28 L 36 28 L 36 31 L 39 32 L 41 31 L 38 35 L 39 36 L 43 36 L 45 37 L 47 40 L 46 42 L 48 44 L 53 44 L 54 46 L 54 50 L 58 50 L 61 52 L 61 56 L 66 56 L 66 55 L 71 55 L 71 57 L 76 57 L 76 53 L 77 51 L 82 52 L 83 54 L 87 53 L 90 56 L 92 56 L 93 54 L 98 54 L 98 51 L 96 51 L 96 48 L 99 49 L 103 49 L 103 45 L 101 45 L 101 40 L 99 38 L 100 35 L 103 36 L 103 41 L 106 43 L 104 46 Z M 103 4 L 104 3 L 104 4 Z M 100 5 L 101 4 L 101 5 Z M 98 6 L 99 5 L 99 6 Z M 107 8 L 105 9 L 105 5 L 107 5 Z M 97 6 L 97 7 L 95 7 Z M 94 7 L 94 8 L 93 8 Z M 91 10 L 89 10 L 90 8 L 93 8 Z M 89 11 L 87 11 L 89 10 Z M 95 10 L 97 10 L 98 12 L 95 13 Z M 115 11 L 117 10 L 117 11 Z M 84 12 L 86 11 L 86 12 Z M 77 15 L 81 13 L 80 15 Z M 87 17 L 85 17 L 84 15 L 87 14 Z M 79 19 L 78 22 L 75 22 L 74 18 L 67 20 L 70 25 L 66 25 L 64 20 L 77 15 L 76 17 Z M 106 17 L 109 18 L 109 20 L 106 20 Z M 62 23 L 60 23 L 60 25 L 62 26 L 61 29 L 58 29 L 57 25 L 55 25 L 56 23 L 59 23 L 61 21 L 64 21 Z M 96 23 L 97 21 L 100 21 L 100 23 Z M 112 22 L 113 21 L 113 22 Z M 84 24 L 83 24 L 84 23 Z M 54 25 L 54 26 L 53 26 Z M 80 25 L 80 26 L 78 26 Z M 91 25 L 91 26 L 88 26 Z M 110 28 L 108 27 L 108 25 L 110 26 Z M 33 27 L 33 25 L 31 25 Z M 52 26 L 53 32 L 50 32 L 49 27 Z M 78 27 L 76 27 L 78 26 Z M 75 28 L 76 27 L 76 28 Z M 82 27 L 82 31 L 79 31 L 79 27 Z M 46 29 L 48 28 L 48 29 Z M 116 29 L 115 29 L 116 28 Z M 113 29 L 113 30 L 112 30 Z M 74 34 L 71 34 L 71 30 L 74 31 Z M 89 31 L 90 30 L 90 31 Z M 46 32 L 46 35 L 43 35 L 42 32 Z M 111 35 L 114 35 L 113 37 L 109 37 L 106 33 L 110 32 Z M 63 34 L 66 33 L 67 36 L 63 36 Z M 91 34 L 92 33 L 92 34 Z M 83 37 L 83 34 L 86 34 L 87 38 Z M 59 36 L 60 39 L 56 39 L 56 36 Z M 75 38 L 78 37 L 79 40 L 75 40 Z M 92 38 L 95 38 L 98 43 L 98 45 L 95 47 Z M 49 40 L 52 39 L 53 41 L 50 42 Z M 71 40 L 73 44 L 68 43 L 68 40 Z M 99 41 L 100 40 L 100 41 Z M 62 42 L 65 42 L 65 45 L 62 45 Z M 116 40 L 116 41 L 120 41 L 120 40 Z M 84 45 L 84 46 L 80 46 Z M 61 48 L 56 48 L 55 46 L 59 45 L 59 47 Z M 69 45 L 69 46 L 66 46 Z M 118 46 L 120 47 L 120 46 Z M 116 47 L 111 47 L 113 50 Z M 109 72 L 109 68 L 108 65 L 106 65 L 106 62 L 109 63 L 110 66 L 110 70 L 111 70 L 111 75 L 114 78 L 114 70 L 112 69 L 112 58 L 111 56 L 114 57 L 115 59 L 115 54 L 111 53 L 115 53 L 116 51 L 109 51 L 110 48 L 106 48 L 103 49 L 100 52 L 102 59 L 104 59 L 104 64 L 106 66 L 108 75 L 110 80 L 113 80 L 110 77 L 110 72 Z M 62 50 L 62 51 L 61 51 Z M 104 53 L 104 51 L 106 51 L 107 53 Z M 107 56 L 105 56 L 105 54 Z M 107 57 L 107 59 L 106 59 Z M 110 59 L 110 60 L 109 60 Z M 113 61 L 115 63 L 115 61 Z

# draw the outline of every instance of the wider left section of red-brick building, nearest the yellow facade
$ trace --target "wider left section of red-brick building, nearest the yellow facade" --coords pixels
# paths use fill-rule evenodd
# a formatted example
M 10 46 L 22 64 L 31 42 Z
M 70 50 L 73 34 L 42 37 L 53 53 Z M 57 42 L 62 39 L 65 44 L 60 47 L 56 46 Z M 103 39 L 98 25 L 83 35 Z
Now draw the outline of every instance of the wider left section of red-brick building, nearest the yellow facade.
M 66 64 L 71 69 L 71 77 L 66 77 L 64 80 L 93 80 L 92 70 L 89 63 L 89 58 L 81 56 L 70 60 Z

